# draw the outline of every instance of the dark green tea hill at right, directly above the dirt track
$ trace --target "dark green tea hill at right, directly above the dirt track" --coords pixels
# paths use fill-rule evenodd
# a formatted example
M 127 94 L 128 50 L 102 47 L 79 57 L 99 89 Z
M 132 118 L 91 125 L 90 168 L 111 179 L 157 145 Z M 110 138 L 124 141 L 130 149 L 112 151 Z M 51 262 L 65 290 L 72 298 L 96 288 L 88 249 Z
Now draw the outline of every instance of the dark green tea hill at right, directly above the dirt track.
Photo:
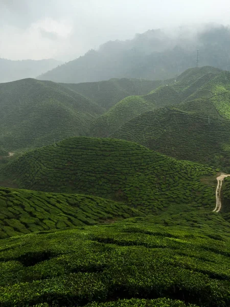
M 212 108 L 209 111 L 211 113 Z M 176 159 L 230 171 L 230 123 L 227 120 L 196 116 L 175 108 L 160 108 L 136 116 L 112 137 L 140 143 Z

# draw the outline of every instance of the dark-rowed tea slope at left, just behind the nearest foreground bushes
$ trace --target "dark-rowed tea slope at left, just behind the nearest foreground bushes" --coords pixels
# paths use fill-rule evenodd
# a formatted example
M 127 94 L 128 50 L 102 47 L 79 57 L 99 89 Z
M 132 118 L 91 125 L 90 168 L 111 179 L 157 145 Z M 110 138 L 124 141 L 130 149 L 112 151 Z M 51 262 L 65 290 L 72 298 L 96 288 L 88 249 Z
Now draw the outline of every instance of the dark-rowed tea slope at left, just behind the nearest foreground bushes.
M 123 203 L 95 196 L 0 188 L 0 239 L 141 215 Z

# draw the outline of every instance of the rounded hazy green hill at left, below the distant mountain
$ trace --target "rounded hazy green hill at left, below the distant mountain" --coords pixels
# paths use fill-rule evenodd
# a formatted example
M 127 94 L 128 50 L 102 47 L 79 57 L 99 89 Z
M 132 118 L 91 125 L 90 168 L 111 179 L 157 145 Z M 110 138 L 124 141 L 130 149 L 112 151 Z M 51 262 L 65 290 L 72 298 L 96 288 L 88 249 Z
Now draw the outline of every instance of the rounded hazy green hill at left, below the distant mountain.
M 51 81 L 24 79 L 0 84 L 0 146 L 7 151 L 85 135 L 103 109 Z

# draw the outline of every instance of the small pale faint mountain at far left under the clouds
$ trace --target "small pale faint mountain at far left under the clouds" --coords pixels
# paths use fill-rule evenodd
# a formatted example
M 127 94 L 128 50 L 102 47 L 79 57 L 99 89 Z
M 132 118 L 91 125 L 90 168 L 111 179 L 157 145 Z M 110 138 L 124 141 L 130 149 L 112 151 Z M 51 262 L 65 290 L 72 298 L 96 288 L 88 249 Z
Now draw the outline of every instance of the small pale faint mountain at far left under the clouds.
M 0 58 L 0 83 L 35 78 L 60 64 L 61 61 L 54 59 L 13 61 Z

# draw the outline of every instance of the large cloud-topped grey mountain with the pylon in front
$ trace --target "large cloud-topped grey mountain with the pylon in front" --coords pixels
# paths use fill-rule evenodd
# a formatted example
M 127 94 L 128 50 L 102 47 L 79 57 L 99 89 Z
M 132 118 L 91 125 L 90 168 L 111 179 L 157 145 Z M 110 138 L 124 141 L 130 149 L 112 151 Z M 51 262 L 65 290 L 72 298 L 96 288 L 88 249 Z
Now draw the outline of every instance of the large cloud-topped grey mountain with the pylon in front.
M 110 78 L 169 79 L 199 65 L 230 69 L 230 28 L 207 26 L 191 34 L 182 27 L 175 33 L 149 30 L 132 40 L 108 41 L 99 50 L 67 62 L 38 77 L 41 80 L 79 83 Z

